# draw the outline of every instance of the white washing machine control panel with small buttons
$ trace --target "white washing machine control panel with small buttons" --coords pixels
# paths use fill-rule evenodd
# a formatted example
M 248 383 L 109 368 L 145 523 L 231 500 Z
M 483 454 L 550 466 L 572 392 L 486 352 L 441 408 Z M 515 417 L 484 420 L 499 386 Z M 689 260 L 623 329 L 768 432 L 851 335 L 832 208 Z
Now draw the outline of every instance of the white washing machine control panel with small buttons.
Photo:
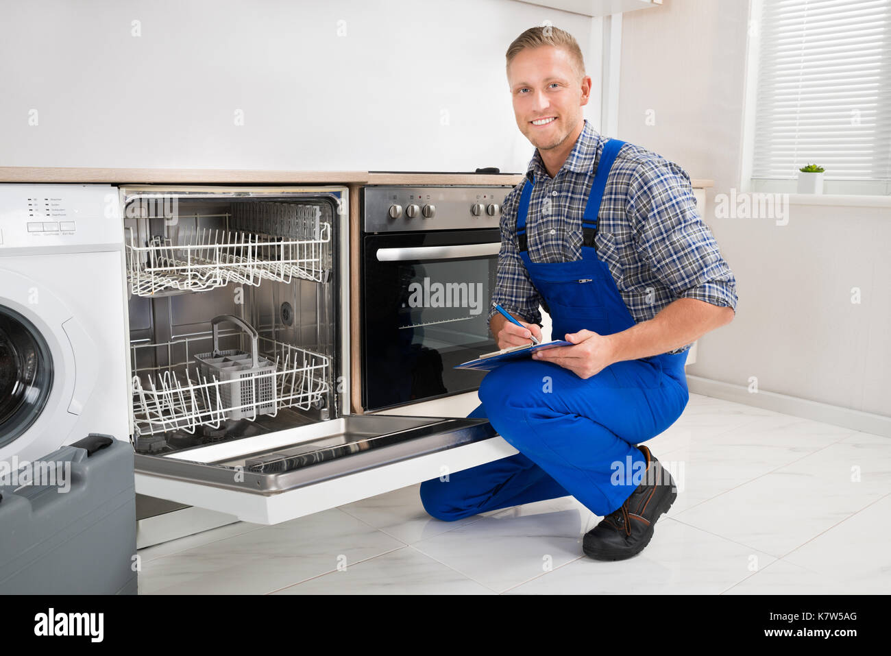
M 0 184 L 2 251 L 41 247 L 107 250 L 120 248 L 123 240 L 117 187 Z

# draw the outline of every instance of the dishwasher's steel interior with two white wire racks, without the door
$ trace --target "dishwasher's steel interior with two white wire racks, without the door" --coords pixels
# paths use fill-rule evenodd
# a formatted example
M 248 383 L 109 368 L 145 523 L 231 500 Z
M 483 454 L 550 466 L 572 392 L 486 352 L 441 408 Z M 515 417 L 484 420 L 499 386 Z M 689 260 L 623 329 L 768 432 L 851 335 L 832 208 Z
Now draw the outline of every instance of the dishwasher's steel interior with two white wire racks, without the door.
M 137 453 L 339 417 L 337 202 L 325 194 L 126 200 Z

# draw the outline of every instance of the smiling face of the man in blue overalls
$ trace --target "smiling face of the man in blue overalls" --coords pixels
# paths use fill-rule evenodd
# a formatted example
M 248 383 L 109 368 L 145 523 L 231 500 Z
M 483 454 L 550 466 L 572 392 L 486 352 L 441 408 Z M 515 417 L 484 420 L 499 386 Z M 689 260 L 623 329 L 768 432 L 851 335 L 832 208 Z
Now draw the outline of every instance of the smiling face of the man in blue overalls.
M 519 131 L 540 151 L 557 148 L 582 120 L 591 78 L 578 78 L 569 53 L 553 45 L 521 50 L 508 68 Z M 544 125 L 532 121 L 545 120 Z

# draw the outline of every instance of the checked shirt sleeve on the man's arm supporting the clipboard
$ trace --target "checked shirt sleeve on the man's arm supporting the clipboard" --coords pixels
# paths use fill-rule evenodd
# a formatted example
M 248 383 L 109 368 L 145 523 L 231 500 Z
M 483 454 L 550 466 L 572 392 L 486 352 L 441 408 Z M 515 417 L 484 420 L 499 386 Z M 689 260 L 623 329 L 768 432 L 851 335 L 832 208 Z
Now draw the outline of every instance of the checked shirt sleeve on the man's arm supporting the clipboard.
M 626 213 L 637 248 L 676 298 L 736 313 L 736 278 L 696 207 L 690 177 L 674 162 L 646 162 L 634 173 Z

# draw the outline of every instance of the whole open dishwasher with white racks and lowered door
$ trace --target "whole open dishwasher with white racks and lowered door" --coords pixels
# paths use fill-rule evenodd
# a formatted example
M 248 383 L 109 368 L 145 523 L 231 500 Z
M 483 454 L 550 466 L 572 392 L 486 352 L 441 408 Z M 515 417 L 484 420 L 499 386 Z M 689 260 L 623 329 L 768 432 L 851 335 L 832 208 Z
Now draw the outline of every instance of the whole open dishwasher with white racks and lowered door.
M 347 187 L 119 196 L 138 494 L 274 524 L 503 456 L 486 420 L 350 413 Z

